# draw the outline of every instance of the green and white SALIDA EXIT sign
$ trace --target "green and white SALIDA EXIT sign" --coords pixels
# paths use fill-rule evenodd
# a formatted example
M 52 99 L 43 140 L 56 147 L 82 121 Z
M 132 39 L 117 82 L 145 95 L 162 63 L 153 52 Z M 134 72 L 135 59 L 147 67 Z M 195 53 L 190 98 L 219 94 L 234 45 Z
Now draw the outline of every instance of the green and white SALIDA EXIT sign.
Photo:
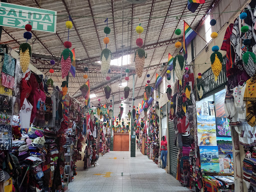
M 32 30 L 55 33 L 56 14 L 53 10 L 0 2 L 1 26 L 25 28 L 30 21 Z

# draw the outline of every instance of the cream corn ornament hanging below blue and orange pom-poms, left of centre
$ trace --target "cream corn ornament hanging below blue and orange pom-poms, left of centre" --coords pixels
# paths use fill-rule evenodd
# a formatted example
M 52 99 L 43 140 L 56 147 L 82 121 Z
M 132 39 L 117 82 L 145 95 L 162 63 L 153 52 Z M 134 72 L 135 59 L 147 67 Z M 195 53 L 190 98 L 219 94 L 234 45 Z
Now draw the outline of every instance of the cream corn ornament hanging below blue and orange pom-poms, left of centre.
M 107 37 L 107 34 L 110 33 L 110 28 L 107 26 L 107 18 L 105 19 L 104 22 L 106 22 L 106 27 L 104 28 L 104 33 L 106 33 L 106 37 L 104 37 L 103 42 L 105 43 L 106 48 L 104 48 L 104 49 L 101 51 L 101 54 L 100 54 L 101 75 L 102 75 L 103 77 L 105 77 L 106 74 L 107 74 L 107 71 L 108 71 L 109 66 L 110 66 L 111 57 L 112 57 L 112 52 L 111 52 L 111 50 L 109 50 L 109 49 L 107 48 L 107 43 L 109 43 L 109 38 Z

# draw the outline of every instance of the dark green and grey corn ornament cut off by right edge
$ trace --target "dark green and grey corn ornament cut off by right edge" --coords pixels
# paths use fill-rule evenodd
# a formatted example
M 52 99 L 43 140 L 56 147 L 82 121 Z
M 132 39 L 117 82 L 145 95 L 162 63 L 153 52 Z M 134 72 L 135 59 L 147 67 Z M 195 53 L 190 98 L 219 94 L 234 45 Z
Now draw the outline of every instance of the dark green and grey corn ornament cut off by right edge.
M 253 52 L 247 51 L 242 55 L 243 67 L 249 76 L 253 76 L 256 71 L 256 56 Z

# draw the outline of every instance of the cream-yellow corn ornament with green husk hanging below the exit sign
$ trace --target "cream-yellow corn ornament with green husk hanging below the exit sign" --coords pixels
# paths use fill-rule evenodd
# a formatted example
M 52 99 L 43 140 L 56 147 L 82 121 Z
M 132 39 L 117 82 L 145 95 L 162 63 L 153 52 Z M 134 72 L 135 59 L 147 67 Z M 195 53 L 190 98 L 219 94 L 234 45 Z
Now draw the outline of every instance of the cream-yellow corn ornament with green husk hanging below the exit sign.
M 19 63 L 22 69 L 22 72 L 25 72 L 28 68 L 29 61 L 31 56 L 31 46 L 25 42 L 19 46 Z

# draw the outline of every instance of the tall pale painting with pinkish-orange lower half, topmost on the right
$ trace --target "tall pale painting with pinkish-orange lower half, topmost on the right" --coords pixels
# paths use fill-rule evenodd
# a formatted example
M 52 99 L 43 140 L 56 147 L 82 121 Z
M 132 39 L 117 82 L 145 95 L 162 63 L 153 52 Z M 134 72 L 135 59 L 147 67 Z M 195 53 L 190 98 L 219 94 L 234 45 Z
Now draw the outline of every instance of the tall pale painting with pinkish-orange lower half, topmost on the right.
M 225 89 L 220 90 L 214 94 L 216 117 L 226 117 L 224 109 L 225 94 Z

